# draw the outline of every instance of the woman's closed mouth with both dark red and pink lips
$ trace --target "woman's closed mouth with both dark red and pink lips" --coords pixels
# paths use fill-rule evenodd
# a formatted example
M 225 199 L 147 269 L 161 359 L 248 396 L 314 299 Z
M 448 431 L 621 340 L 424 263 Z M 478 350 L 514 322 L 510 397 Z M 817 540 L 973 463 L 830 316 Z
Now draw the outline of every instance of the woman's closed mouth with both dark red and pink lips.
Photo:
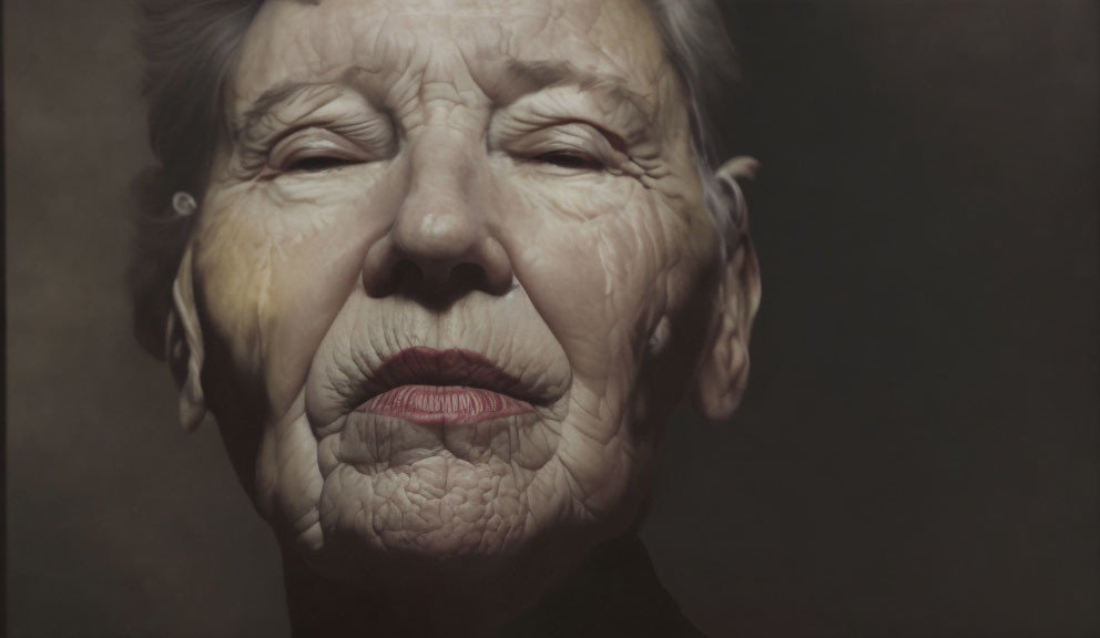
M 380 391 L 357 412 L 425 425 L 464 425 L 532 412 L 539 398 L 515 377 L 468 350 L 409 348 L 374 373 Z

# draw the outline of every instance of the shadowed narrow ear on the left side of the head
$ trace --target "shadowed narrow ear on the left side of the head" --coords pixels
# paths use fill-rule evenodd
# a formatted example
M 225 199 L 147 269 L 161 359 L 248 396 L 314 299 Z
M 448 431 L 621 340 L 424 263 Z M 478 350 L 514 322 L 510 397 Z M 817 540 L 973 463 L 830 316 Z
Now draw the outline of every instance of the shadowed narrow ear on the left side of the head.
M 206 416 L 203 397 L 203 336 L 195 310 L 191 245 L 184 250 L 172 284 L 172 311 L 167 323 L 167 360 L 180 387 L 180 422 L 194 430 Z

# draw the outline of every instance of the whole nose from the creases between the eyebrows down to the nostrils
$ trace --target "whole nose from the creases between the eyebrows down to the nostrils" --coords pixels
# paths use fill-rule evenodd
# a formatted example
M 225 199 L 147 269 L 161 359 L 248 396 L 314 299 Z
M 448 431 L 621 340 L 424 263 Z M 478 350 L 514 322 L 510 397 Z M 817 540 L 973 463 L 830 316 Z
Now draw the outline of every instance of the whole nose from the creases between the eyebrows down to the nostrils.
M 363 284 L 373 297 L 401 291 L 435 302 L 512 286 L 508 253 L 493 236 L 499 202 L 485 145 L 490 105 L 464 74 L 462 56 L 436 58 L 399 113 L 404 188 L 389 231 L 364 259 Z

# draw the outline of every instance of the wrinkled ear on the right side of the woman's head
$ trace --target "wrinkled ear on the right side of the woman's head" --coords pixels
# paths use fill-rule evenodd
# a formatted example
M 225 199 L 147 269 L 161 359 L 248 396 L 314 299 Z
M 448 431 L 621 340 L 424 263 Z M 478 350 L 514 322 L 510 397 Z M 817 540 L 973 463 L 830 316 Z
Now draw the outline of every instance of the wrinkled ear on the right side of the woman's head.
M 761 284 L 741 184 L 755 179 L 758 168 L 752 157 L 734 157 L 714 174 L 720 189 L 717 205 L 729 215 L 729 231 L 715 297 L 716 317 L 693 388 L 695 411 L 711 421 L 733 416 L 748 383 L 748 337 L 760 307 Z

